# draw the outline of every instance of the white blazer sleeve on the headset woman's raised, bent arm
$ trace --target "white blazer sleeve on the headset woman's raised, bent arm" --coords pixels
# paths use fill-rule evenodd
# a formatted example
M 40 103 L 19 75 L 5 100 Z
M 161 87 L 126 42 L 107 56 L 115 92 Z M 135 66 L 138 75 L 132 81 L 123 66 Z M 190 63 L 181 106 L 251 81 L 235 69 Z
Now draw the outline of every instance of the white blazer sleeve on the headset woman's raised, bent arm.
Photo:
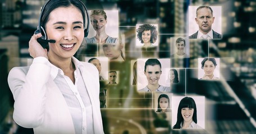
M 34 128 L 43 122 L 50 73 L 49 61 L 43 57 L 35 58 L 30 67 L 16 67 L 10 71 L 8 84 L 15 100 L 13 119 L 18 125 Z

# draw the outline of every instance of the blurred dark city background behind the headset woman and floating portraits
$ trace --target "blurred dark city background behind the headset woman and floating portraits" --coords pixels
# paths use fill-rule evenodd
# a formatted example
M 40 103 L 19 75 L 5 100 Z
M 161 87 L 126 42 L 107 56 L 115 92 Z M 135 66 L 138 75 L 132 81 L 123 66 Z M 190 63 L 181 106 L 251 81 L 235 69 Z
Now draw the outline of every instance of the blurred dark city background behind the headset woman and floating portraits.
M 14 66 L 26 66 L 28 42 L 38 25 L 44 0 L 0 1 L 0 133 L 33 133 L 13 121 L 13 97 L 7 83 Z M 256 1 L 248 0 L 88 0 L 88 10 L 119 11 L 125 35 L 125 61 L 109 63 L 120 82 L 107 89 L 102 109 L 105 133 L 256 133 Z M 173 95 L 205 97 L 205 130 L 172 130 L 171 113 L 156 113 L 154 94 L 139 94 L 131 84 L 132 60 L 170 58 L 171 37 L 188 37 L 189 6 L 222 6 L 221 40 L 190 40 L 190 58 L 171 59 L 180 69 Z M 138 49 L 136 24 L 158 24 L 157 49 Z M 92 50 L 90 50 L 92 48 Z M 89 47 L 84 56 L 98 56 Z M 97 51 L 97 50 L 96 50 Z M 220 58 L 220 81 L 198 80 L 198 58 Z

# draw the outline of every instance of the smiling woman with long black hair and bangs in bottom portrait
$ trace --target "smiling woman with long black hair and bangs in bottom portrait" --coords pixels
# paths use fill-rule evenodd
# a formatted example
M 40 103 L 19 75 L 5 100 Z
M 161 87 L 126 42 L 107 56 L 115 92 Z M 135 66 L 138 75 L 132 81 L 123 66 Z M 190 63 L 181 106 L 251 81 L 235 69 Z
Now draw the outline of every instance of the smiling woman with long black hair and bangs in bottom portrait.
M 177 121 L 173 129 L 203 129 L 196 124 L 197 122 L 195 100 L 191 97 L 182 98 L 177 109 Z

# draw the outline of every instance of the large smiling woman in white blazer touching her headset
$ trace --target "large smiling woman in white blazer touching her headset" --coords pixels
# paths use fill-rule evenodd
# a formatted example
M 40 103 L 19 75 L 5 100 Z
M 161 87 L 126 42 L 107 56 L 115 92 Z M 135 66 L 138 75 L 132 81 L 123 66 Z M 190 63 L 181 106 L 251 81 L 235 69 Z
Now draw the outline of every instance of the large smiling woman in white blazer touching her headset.
M 83 3 L 52 0 L 44 8 L 42 27 L 54 41 L 47 51 L 37 41 L 42 33 L 34 34 L 29 41 L 33 63 L 10 71 L 13 119 L 35 133 L 104 133 L 98 70 L 73 56 L 85 34 Z

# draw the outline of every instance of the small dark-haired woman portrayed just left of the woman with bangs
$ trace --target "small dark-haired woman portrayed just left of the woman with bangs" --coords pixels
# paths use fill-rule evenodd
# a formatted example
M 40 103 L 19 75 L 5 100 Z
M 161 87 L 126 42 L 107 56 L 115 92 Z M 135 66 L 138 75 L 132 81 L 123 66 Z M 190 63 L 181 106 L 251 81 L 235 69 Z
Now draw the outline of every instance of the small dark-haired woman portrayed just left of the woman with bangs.
M 157 111 L 156 112 L 171 112 L 170 98 L 166 94 L 161 94 L 157 100 Z

